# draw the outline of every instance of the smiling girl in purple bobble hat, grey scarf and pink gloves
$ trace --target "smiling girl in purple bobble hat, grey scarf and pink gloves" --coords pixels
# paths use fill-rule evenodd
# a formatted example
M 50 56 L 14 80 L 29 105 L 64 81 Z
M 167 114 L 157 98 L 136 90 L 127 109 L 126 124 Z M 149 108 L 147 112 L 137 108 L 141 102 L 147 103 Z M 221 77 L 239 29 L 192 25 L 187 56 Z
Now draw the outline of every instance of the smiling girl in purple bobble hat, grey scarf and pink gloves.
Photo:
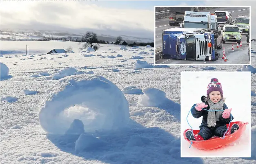
M 212 136 L 223 137 L 227 131 L 227 125 L 234 118 L 230 114 L 232 108 L 228 109 L 223 100 L 223 90 L 218 79 L 212 78 L 207 87 L 207 97 L 202 96 L 203 103 L 194 104 L 191 113 L 194 118 L 203 116 L 200 125 L 200 132 L 194 135 L 189 129 L 186 131 L 186 137 L 191 140 L 208 140 Z M 206 103 L 206 104 L 205 104 Z M 208 105 L 207 105 L 208 104 Z M 207 109 L 207 110 L 203 110 Z M 238 124 L 233 124 L 225 136 L 234 133 L 239 129 Z

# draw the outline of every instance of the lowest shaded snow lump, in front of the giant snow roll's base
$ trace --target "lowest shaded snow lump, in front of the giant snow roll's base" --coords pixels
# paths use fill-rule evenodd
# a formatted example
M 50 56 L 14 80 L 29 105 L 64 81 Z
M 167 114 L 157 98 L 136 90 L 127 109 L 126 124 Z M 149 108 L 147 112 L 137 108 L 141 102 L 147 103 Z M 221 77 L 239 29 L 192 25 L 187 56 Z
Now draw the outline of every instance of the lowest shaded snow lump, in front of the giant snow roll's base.
M 80 134 L 79 138 L 76 140 L 75 151 L 78 153 L 80 151 L 100 149 L 100 147 L 104 146 L 105 144 L 106 142 L 103 142 L 91 134 Z

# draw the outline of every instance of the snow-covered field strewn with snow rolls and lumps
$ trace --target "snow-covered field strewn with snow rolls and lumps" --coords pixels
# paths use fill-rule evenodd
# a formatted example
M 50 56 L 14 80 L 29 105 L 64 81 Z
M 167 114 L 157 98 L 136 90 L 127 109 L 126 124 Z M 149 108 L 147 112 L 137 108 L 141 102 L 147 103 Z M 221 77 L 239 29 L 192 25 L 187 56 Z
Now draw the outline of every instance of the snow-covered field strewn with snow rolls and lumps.
M 1 76 L 1 163 L 256 163 L 255 42 L 252 66 L 213 68 L 154 66 L 154 48 L 107 44 L 86 52 L 72 42 L 0 44 L 9 69 Z M 26 44 L 29 55 L 22 56 Z M 68 46 L 74 53 L 45 54 Z M 180 72 L 211 70 L 252 73 L 250 158 L 180 157 Z

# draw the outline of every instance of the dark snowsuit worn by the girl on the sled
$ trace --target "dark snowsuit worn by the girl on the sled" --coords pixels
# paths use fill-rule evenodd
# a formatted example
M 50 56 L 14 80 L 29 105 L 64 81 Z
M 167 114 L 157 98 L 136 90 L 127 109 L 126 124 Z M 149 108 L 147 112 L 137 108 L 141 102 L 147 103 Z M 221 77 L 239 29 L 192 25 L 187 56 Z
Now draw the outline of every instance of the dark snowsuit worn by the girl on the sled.
M 191 114 L 193 115 L 194 118 L 200 118 L 201 116 L 203 116 L 203 120 L 202 123 L 200 125 L 200 132 L 198 133 L 198 135 L 202 136 L 204 140 L 208 140 L 209 138 L 211 138 L 212 136 L 219 136 L 219 137 L 223 137 L 224 133 L 227 131 L 227 125 L 229 124 L 230 120 L 234 119 L 234 117 L 229 116 L 229 118 L 225 119 L 222 117 L 222 115 L 220 115 L 219 121 L 216 121 L 216 125 L 215 127 L 207 127 L 207 116 L 208 116 L 208 112 L 207 110 L 210 109 L 210 107 L 206 107 L 204 109 L 207 110 L 201 110 L 198 111 L 196 110 L 195 106 L 196 104 L 193 105 L 194 107 L 191 109 Z M 224 103 L 223 105 L 223 110 L 228 109 L 227 105 Z M 216 114 L 216 112 L 215 112 Z M 230 128 L 230 127 L 229 127 Z

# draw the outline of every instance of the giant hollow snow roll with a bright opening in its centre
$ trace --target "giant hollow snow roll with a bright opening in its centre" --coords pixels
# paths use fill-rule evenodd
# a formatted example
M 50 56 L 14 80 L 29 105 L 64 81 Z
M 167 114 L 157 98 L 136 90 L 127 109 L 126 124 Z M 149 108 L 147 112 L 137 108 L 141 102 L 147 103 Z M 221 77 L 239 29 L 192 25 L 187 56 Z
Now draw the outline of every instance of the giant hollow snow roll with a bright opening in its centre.
M 85 131 L 116 129 L 127 125 L 129 104 L 111 81 L 95 74 L 60 79 L 39 107 L 39 122 L 47 133 L 65 133 L 74 119 Z

